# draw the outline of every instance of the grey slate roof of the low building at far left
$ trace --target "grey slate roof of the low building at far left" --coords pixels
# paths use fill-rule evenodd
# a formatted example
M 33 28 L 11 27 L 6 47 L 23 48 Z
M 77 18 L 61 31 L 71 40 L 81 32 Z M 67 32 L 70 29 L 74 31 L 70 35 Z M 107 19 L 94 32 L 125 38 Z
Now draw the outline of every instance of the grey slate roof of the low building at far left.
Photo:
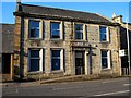
M 14 24 L 0 24 L 0 40 L 2 40 L 2 53 L 13 53 Z M 1 39 L 2 38 L 2 39 Z

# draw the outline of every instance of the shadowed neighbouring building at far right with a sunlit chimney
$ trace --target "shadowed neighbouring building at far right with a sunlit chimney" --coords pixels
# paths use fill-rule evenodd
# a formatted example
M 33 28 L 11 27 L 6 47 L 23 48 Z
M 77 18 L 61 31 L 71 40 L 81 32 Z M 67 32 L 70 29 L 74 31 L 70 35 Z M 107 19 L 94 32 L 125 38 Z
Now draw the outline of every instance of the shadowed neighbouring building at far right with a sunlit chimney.
M 122 15 L 114 15 L 112 21 L 120 24 L 120 50 L 124 52 L 123 56 L 121 56 L 121 70 L 122 74 L 128 75 L 131 68 L 129 64 L 129 61 L 131 62 L 131 24 L 124 23 L 122 21 Z M 127 39 L 127 36 L 129 39 Z

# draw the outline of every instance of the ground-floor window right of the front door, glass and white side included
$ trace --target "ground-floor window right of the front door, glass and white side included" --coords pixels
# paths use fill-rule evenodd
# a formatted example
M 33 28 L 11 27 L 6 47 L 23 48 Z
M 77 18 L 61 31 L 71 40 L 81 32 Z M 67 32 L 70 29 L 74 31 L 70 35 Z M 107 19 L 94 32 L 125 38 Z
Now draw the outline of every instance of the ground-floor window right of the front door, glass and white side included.
M 110 62 L 109 62 L 109 51 L 108 50 L 102 50 L 102 69 L 109 69 Z

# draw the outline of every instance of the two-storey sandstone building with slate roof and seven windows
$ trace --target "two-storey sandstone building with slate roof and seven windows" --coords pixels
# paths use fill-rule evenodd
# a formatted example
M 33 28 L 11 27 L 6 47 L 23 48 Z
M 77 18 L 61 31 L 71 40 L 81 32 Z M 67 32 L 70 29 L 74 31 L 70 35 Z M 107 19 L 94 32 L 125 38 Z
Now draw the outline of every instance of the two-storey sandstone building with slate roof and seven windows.
M 119 24 L 88 12 L 17 3 L 20 75 L 121 75 Z

